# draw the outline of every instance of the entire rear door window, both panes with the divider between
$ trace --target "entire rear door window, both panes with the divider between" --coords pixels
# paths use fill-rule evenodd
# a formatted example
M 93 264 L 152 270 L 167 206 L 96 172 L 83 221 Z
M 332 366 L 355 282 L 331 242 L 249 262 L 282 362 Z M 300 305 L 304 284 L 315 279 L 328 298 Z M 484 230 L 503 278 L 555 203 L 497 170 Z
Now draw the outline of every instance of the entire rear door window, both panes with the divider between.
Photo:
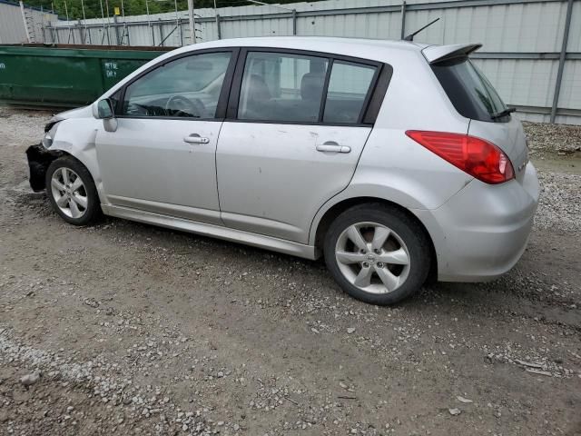
M 237 117 L 266 123 L 363 124 L 378 73 L 379 65 L 318 55 L 249 52 Z

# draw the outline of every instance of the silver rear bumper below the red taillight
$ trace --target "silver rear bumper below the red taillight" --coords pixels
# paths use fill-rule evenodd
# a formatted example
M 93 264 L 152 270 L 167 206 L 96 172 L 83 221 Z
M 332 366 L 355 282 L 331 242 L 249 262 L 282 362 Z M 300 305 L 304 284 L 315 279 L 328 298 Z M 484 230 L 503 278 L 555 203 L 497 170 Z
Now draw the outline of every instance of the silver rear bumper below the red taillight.
M 438 209 L 412 211 L 434 243 L 438 280 L 487 281 L 515 266 L 527 248 L 539 194 L 533 164 L 524 171 L 520 182 L 474 180 Z

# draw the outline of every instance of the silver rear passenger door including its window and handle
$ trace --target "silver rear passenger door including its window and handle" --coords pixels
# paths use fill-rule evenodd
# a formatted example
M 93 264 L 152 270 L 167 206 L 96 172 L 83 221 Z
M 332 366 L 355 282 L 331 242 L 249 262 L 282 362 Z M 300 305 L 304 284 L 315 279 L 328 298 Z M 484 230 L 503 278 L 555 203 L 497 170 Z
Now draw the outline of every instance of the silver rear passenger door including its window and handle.
M 223 223 L 307 243 L 320 205 L 350 183 L 380 70 L 325 54 L 243 50 L 216 154 Z

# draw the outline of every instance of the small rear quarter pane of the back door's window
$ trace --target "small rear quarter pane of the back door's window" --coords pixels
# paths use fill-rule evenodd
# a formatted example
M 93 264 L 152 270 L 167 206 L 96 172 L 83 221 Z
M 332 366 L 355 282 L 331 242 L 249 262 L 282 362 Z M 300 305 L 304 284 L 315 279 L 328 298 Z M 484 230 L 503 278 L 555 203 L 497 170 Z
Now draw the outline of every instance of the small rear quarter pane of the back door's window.
M 324 123 L 359 123 L 377 68 L 335 61 L 330 72 Z

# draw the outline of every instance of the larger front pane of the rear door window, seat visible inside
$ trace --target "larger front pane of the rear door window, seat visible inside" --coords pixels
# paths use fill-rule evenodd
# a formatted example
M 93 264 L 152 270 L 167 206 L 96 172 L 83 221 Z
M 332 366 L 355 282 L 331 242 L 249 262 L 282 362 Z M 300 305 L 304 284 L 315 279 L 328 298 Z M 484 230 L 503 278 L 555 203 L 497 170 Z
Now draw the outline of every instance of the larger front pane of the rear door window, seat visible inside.
M 317 122 L 329 60 L 251 52 L 242 76 L 241 120 Z

